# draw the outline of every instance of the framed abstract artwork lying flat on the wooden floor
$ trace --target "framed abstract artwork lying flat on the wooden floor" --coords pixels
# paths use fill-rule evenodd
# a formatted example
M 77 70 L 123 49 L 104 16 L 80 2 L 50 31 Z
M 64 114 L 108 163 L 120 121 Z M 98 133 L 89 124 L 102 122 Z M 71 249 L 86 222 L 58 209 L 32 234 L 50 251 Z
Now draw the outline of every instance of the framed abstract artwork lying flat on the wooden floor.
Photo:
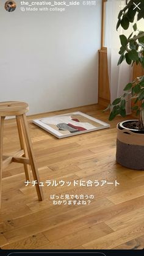
M 59 139 L 110 127 L 108 123 L 80 111 L 35 119 L 32 122 Z

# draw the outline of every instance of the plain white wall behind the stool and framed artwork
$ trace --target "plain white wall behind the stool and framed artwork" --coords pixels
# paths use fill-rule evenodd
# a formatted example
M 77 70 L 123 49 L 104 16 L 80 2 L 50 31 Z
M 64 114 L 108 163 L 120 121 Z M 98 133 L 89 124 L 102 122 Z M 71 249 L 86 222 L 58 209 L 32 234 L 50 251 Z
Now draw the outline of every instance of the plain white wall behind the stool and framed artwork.
M 81 1 L 82 2 L 82 1 Z M 97 103 L 101 0 L 65 12 L 14 12 L 0 4 L 0 101 L 29 114 Z

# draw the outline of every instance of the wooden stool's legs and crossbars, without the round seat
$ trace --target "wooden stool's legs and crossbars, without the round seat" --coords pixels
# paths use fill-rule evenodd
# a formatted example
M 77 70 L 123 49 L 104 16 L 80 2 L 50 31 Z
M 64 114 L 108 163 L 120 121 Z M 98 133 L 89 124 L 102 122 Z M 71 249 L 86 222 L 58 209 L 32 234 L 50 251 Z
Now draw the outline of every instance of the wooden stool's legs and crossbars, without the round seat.
M 26 180 L 31 181 L 31 172 L 29 166 L 32 169 L 32 175 L 34 180 L 39 184 L 38 169 L 35 163 L 34 152 L 32 149 L 31 137 L 29 136 L 29 127 L 27 124 L 26 114 L 16 115 L 16 123 L 18 127 L 18 135 L 20 139 L 20 147 L 16 153 L 12 155 L 3 155 L 3 131 L 4 131 L 4 119 L 0 117 L 0 207 L 1 207 L 1 188 L 2 188 L 2 169 L 9 166 L 10 163 L 20 163 L 24 165 L 24 172 Z M 35 184 L 38 200 L 43 200 L 43 192 L 41 187 Z

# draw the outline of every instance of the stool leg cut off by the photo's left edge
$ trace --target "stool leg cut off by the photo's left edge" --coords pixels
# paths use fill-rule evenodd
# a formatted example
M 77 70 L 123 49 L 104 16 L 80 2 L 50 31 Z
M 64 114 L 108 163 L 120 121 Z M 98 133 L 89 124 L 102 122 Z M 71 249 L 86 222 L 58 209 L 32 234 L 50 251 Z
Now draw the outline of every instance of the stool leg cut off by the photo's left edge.
M 4 119 L 5 117 L 0 117 L 0 208 L 1 208 L 1 191 L 2 191 L 2 151 L 3 151 Z

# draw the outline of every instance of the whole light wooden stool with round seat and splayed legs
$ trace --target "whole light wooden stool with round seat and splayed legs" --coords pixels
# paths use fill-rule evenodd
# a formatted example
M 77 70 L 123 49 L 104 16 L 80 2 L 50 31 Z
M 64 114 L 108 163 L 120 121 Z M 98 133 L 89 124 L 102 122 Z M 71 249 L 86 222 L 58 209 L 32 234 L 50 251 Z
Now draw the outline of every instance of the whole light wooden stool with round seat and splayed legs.
M 31 165 L 34 180 L 39 184 L 38 169 L 35 164 L 34 153 L 32 150 L 31 138 L 29 136 L 29 127 L 26 119 L 26 112 L 29 111 L 27 103 L 19 101 L 8 101 L 0 103 L 0 207 L 1 207 L 1 187 L 2 187 L 2 168 L 7 167 L 10 163 L 24 164 L 24 172 L 26 180 L 31 181 L 29 166 Z M 16 123 L 18 126 L 18 134 L 20 138 L 21 150 L 15 155 L 3 156 L 3 130 L 4 119 L 6 116 L 16 116 Z M 43 200 L 43 192 L 41 187 L 35 184 L 37 190 L 38 200 Z

